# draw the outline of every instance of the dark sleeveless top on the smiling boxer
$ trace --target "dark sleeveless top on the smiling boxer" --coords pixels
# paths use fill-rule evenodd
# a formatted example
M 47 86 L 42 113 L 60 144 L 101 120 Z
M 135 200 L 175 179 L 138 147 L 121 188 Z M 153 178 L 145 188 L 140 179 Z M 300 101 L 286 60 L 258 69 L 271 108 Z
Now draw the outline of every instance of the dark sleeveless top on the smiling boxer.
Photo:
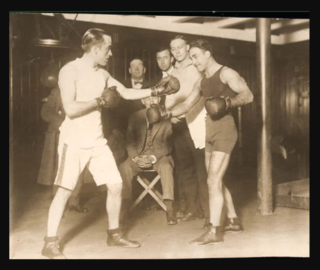
M 222 83 L 220 80 L 220 72 L 221 68 L 219 68 L 215 74 L 213 74 L 210 78 L 203 77 L 200 82 L 200 90 L 202 91 L 202 96 L 204 98 L 210 96 L 224 96 L 234 98 L 236 96 L 236 92 L 232 91 L 231 88 Z

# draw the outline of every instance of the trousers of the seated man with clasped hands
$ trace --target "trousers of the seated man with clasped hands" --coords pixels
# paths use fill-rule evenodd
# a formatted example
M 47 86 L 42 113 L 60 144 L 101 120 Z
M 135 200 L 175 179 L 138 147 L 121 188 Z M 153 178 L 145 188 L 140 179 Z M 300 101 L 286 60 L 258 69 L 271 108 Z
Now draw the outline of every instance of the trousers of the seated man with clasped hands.
M 173 193 L 173 159 L 171 156 L 164 156 L 160 160 L 153 164 L 153 170 L 155 170 L 159 176 L 163 191 L 164 200 L 174 199 Z M 119 167 L 120 175 L 123 180 L 123 189 L 122 189 L 122 199 L 131 200 L 132 199 L 132 179 L 138 172 L 143 172 L 139 168 L 138 164 L 132 161 L 129 157 L 124 163 L 120 164 Z

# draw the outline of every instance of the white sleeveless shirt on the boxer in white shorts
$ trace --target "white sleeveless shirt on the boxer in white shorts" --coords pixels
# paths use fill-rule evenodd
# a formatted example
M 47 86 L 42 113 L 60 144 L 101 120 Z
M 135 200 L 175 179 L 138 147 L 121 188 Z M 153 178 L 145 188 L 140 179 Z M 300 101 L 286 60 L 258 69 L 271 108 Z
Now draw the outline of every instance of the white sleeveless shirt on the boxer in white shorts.
M 67 65 L 76 69 L 76 101 L 89 101 L 101 96 L 106 85 L 101 68 L 88 67 L 79 58 Z M 66 115 L 59 130 L 60 141 L 68 145 L 92 148 L 107 144 L 102 132 L 101 108 L 76 117 Z

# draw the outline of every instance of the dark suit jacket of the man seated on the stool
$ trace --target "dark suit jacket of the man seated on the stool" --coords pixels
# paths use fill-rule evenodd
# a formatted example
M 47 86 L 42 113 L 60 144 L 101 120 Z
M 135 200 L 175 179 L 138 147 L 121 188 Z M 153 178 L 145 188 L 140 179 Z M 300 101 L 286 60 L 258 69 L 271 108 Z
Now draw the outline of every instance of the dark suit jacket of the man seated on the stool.
M 129 117 L 126 149 L 130 158 L 141 155 L 147 138 L 147 109 L 133 113 Z M 152 148 L 149 155 L 154 155 L 157 162 L 164 156 L 169 156 L 173 147 L 172 125 L 169 119 L 156 123 L 152 127 Z

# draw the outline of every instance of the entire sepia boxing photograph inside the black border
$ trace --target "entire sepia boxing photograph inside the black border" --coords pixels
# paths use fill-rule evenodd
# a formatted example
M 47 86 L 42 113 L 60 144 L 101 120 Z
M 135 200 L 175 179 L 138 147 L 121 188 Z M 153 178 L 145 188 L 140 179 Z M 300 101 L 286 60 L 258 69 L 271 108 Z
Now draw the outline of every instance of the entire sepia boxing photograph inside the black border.
M 309 258 L 309 11 L 9 12 L 9 259 Z

